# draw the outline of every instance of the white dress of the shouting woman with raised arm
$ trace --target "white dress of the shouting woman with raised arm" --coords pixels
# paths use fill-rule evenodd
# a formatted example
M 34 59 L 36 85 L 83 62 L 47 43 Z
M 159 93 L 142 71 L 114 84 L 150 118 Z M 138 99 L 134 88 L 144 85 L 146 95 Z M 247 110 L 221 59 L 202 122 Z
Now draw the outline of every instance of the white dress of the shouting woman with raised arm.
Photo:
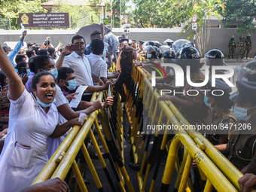
M 11 99 L 10 99 L 11 100 Z M 9 129 L 0 156 L 0 191 L 29 187 L 47 163 L 47 136 L 59 123 L 55 105 L 45 113 L 26 89 L 11 100 Z

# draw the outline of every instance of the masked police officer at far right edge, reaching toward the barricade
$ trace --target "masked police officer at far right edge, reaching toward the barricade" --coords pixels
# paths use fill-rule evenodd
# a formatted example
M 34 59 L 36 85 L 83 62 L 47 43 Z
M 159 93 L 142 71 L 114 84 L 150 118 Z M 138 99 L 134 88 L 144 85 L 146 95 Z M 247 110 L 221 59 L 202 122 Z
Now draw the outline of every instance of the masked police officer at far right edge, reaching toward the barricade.
M 256 83 L 236 81 L 237 92 L 230 96 L 235 102 L 233 113 L 237 123 L 230 127 L 231 136 L 227 144 L 215 145 L 228 160 L 241 170 L 247 166 L 256 151 Z

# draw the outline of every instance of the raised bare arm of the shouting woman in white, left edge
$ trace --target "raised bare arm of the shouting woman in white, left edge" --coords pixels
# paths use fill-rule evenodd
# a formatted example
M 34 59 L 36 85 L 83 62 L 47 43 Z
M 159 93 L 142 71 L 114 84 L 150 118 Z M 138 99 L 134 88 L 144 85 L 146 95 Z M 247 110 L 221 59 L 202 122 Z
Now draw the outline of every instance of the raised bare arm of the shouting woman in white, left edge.
M 0 69 L 7 76 L 9 82 L 9 97 L 12 100 L 17 100 L 23 93 L 25 87 L 19 75 L 11 64 L 10 59 L 0 45 Z

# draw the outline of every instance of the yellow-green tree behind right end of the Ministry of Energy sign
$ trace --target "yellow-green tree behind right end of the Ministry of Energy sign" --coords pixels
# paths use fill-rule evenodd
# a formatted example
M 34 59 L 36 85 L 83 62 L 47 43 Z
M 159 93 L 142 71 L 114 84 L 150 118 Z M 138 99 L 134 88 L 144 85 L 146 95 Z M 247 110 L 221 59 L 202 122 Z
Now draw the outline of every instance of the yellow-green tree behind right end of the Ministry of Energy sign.
M 53 12 L 69 13 L 70 27 L 73 24 L 73 28 L 80 28 L 99 23 L 99 15 L 89 5 L 87 2 L 84 2 L 84 5 L 70 5 L 67 0 L 55 0 Z

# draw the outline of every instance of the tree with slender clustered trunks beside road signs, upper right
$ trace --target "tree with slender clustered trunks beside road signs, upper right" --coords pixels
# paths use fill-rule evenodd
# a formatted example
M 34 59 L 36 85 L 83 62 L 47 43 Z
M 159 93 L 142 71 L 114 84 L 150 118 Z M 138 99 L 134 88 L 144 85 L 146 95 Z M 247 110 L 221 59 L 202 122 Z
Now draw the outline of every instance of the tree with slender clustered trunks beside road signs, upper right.
M 220 17 L 224 12 L 224 2 L 221 0 L 187 0 L 181 2 L 179 5 L 181 13 L 184 17 L 183 31 L 188 32 L 187 39 L 194 35 L 191 29 L 193 14 L 197 14 L 197 30 L 195 30 L 197 38 L 197 46 L 201 56 L 206 52 L 209 35 L 211 31 L 211 18 L 212 16 Z

